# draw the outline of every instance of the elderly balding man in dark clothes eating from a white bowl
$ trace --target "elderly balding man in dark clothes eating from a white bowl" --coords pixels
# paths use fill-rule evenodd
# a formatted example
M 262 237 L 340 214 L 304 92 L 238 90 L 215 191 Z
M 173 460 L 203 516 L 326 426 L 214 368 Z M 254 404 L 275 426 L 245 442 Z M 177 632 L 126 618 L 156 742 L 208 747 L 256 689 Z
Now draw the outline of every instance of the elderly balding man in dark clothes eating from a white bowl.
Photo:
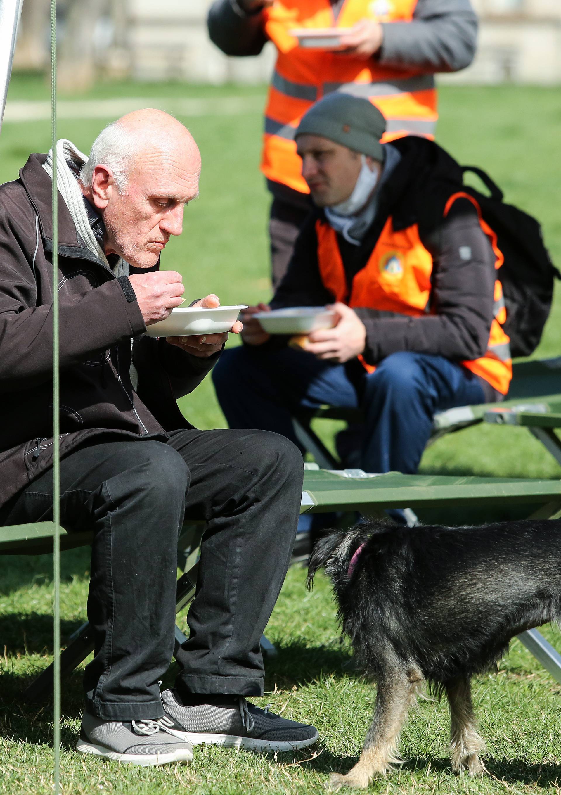
M 188 762 L 195 743 L 314 743 L 313 727 L 246 701 L 263 692 L 259 641 L 292 551 L 300 452 L 273 433 L 184 420 L 176 398 L 226 334 L 145 335 L 184 301 L 180 274 L 159 265 L 198 194 L 199 149 L 176 119 L 138 111 L 106 127 L 89 160 L 68 141 L 57 154 L 62 521 L 94 532 L 77 750 L 153 765 Z M 0 525 L 52 519 L 51 184 L 48 153 L 0 186 Z M 207 530 L 181 670 L 161 693 L 184 517 Z

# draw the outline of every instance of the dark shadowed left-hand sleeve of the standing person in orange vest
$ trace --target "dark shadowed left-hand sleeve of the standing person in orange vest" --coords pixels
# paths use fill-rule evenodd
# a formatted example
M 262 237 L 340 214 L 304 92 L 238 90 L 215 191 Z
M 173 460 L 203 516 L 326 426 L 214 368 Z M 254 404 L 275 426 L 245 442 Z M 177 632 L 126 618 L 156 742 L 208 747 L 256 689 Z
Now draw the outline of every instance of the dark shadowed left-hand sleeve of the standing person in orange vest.
M 260 12 L 246 14 L 236 0 L 215 0 L 208 12 L 208 34 L 226 55 L 259 55 L 267 41 L 261 17 Z

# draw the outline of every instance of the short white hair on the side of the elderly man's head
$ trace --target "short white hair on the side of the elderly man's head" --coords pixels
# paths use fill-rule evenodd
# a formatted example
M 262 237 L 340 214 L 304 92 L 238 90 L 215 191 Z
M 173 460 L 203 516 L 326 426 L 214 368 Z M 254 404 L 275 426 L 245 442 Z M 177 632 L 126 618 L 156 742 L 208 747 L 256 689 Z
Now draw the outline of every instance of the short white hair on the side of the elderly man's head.
M 111 122 L 91 145 L 90 157 L 79 173 L 80 182 L 91 188 L 96 165 L 106 165 L 111 170 L 117 190 L 126 193 L 130 171 L 141 149 L 141 134 Z

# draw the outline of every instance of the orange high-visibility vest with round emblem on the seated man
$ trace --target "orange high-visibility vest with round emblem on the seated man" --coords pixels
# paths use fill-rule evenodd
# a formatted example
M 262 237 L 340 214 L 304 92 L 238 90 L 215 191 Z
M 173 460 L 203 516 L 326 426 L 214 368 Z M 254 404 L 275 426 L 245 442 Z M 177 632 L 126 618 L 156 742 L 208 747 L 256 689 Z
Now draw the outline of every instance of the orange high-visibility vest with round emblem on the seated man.
M 489 236 L 495 252 L 495 268 L 501 267 L 504 257 L 497 248 L 497 236 L 482 219 L 477 202 L 469 194 L 460 192 L 451 196 L 444 210 L 446 216 L 458 198 L 469 199 L 478 209 L 479 222 Z M 354 276 L 352 285 L 347 285 L 339 243 L 335 230 L 320 220 L 315 223 L 318 238 L 319 273 L 323 285 L 350 307 L 366 307 L 401 315 L 421 316 L 429 312 L 431 293 L 432 257 L 424 247 L 415 223 L 406 229 L 395 231 L 391 217 L 378 238 L 366 266 Z M 507 394 L 513 377 L 510 355 L 510 340 L 502 325 L 506 319 L 505 300 L 501 282 L 495 280 L 493 322 L 484 356 L 460 362 L 472 373 L 485 378 L 497 392 Z M 366 370 L 375 367 L 358 357 Z

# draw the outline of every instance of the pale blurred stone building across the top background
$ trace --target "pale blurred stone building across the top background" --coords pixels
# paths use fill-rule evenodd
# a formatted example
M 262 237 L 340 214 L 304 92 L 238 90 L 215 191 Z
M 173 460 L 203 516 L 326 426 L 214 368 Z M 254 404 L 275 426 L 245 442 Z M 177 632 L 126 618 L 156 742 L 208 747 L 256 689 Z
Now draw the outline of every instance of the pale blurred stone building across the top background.
M 472 0 L 478 54 L 455 83 L 561 83 L 561 0 Z M 226 58 L 207 36 L 211 0 L 59 0 L 60 82 L 85 87 L 96 74 L 193 83 L 268 80 L 274 52 Z M 25 0 L 15 66 L 48 60 L 48 0 Z M 41 27 L 42 26 L 42 27 Z

